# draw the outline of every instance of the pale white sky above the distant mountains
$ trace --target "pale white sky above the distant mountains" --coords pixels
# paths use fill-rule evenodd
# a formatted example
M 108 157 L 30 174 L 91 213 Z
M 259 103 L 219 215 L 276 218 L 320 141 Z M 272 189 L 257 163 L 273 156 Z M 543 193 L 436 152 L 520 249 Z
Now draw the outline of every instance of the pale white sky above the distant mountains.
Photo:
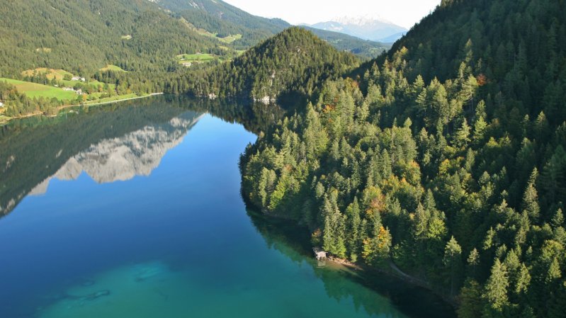
M 224 0 L 256 16 L 298 23 L 329 21 L 336 16 L 380 16 L 410 28 L 441 0 Z

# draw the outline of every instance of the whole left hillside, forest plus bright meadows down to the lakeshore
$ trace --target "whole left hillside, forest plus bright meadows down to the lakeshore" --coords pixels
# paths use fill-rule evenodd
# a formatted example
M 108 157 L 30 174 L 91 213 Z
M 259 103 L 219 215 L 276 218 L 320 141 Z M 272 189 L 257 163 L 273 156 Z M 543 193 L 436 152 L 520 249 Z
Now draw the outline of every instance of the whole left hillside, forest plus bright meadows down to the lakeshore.
M 62 104 L 84 100 L 160 92 L 166 76 L 185 69 L 178 55 L 237 55 L 149 1 L 7 1 L 0 16 L 0 78 L 47 84 L 57 96 L 67 94 L 55 99 L 45 89 L 33 94 L 0 85 L 0 102 L 6 104 L 0 113 L 9 116 L 53 113 Z M 85 79 L 54 81 L 48 69 Z M 88 95 L 73 97 L 74 92 L 62 91 L 63 86 Z

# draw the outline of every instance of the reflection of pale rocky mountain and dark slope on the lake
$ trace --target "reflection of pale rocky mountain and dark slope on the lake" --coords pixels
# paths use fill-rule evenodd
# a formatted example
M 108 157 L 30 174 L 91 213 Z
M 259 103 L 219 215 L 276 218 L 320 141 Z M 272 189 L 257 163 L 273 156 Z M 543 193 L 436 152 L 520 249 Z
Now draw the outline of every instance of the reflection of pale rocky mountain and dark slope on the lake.
M 204 113 L 241 123 L 257 135 L 283 110 L 159 96 L 0 127 L 0 216 L 26 195 L 45 193 L 52 178 L 74 180 L 83 171 L 98 183 L 148 176 Z

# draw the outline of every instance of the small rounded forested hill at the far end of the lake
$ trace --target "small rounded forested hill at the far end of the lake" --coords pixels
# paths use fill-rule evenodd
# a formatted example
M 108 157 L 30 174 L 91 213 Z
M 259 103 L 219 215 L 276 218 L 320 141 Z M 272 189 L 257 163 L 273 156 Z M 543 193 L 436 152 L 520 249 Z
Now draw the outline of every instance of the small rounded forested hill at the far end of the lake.
M 254 99 L 288 94 L 311 96 L 325 79 L 335 79 L 358 65 L 358 59 L 338 52 L 302 28 L 288 28 L 234 61 L 173 79 L 169 91 L 196 96 Z

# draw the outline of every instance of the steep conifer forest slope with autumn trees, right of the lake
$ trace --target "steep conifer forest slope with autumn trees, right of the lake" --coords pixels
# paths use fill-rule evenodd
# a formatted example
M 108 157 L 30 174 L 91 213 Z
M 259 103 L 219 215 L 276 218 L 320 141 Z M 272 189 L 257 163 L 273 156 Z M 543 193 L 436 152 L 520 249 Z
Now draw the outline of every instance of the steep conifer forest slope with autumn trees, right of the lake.
M 244 195 L 468 317 L 566 312 L 566 6 L 444 0 L 242 157 Z

